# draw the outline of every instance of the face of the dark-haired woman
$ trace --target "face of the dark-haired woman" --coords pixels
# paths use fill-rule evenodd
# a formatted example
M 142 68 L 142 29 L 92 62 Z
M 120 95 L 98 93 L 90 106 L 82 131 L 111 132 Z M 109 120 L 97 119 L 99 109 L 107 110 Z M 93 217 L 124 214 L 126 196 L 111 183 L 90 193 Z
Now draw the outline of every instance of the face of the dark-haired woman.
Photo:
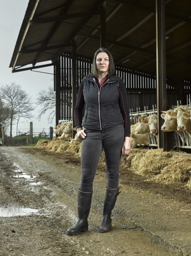
M 96 66 L 98 73 L 105 73 L 105 76 L 108 74 L 109 70 L 109 56 L 106 52 L 98 53 L 96 57 Z

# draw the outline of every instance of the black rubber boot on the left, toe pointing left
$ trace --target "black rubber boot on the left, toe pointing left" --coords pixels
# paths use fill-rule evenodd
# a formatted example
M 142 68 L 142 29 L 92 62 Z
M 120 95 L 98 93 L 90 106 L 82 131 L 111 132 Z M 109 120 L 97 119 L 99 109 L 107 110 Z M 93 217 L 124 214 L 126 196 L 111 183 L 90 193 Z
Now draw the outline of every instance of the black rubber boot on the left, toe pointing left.
M 73 236 L 88 230 L 88 215 L 91 207 L 91 198 L 93 192 L 82 192 L 78 190 L 77 212 L 78 220 L 73 227 L 68 228 L 68 235 Z

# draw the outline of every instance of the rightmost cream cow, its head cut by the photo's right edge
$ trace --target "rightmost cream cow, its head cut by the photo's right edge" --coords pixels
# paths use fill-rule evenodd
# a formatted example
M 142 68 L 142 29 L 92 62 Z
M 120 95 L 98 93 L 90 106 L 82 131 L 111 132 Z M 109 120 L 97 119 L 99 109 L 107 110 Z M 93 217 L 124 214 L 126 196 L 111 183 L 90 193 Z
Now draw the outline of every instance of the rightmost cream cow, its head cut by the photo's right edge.
M 177 130 L 186 131 L 191 136 L 191 121 L 184 117 L 183 113 L 191 111 L 191 108 L 187 106 L 179 106 L 174 109 L 171 116 L 177 118 Z

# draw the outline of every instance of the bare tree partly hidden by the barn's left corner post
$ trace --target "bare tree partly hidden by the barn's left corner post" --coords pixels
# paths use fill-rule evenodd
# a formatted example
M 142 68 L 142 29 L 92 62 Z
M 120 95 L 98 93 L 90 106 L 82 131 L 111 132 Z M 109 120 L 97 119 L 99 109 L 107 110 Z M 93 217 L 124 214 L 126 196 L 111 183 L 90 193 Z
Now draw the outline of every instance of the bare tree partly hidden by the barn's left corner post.
M 55 106 L 56 106 L 56 97 L 55 91 L 52 86 L 49 86 L 47 90 L 41 90 L 38 92 L 36 99 L 36 104 L 41 106 L 40 113 L 38 114 L 38 119 L 41 119 L 41 116 L 48 114 L 48 122 L 52 123 L 55 117 Z

